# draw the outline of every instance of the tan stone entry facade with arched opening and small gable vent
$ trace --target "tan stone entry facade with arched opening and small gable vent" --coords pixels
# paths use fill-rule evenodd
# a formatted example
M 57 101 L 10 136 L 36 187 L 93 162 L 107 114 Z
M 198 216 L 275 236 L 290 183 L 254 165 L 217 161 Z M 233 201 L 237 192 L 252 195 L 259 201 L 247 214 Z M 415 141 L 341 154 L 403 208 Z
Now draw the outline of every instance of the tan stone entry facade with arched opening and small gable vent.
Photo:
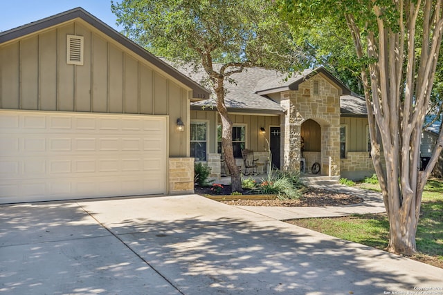
M 318 81 L 319 94 L 312 92 Z M 321 171 L 331 176 L 340 175 L 340 93 L 322 75 L 316 75 L 298 86 L 297 91 L 281 94 L 281 103 L 287 109 L 282 128 L 284 151 L 281 162 L 284 169 L 300 171 L 300 130 L 305 120 L 315 120 L 321 127 Z

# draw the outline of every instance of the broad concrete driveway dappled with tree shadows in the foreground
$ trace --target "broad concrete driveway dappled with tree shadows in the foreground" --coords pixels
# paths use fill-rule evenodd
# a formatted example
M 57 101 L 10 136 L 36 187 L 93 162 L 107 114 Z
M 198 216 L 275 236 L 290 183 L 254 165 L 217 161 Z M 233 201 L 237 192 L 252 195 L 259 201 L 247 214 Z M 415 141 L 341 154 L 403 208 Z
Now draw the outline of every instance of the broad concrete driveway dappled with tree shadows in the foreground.
M 2 205 L 0 258 L 0 294 L 443 294 L 443 269 L 197 195 Z

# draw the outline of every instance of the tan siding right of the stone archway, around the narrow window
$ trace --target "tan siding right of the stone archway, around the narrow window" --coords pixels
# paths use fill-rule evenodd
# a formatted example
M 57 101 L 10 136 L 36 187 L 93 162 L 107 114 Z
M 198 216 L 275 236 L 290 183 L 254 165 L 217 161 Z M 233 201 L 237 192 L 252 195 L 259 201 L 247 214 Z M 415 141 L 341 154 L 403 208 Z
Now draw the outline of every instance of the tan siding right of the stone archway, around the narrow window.
M 368 151 L 367 126 L 365 117 L 341 117 L 341 124 L 347 126 L 347 151 Z

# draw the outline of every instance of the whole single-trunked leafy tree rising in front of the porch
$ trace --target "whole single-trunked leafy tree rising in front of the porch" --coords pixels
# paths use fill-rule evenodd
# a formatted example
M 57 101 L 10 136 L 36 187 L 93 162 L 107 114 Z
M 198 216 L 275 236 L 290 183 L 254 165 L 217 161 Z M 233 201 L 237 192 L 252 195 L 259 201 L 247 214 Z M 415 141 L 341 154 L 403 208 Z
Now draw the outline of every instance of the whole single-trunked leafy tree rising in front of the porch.
M 127 37 L 156 55 L 203 68 L 221 117 L 221 145 L 233 191 L 242 183 L 224 95 L 231 76 L 251 66 L 287 71 L 302 67 L 289 26 L 273 3 L 260 0 L 125 0 L 112 11 Z M 216 64 L 218 63 L 218 64 Z

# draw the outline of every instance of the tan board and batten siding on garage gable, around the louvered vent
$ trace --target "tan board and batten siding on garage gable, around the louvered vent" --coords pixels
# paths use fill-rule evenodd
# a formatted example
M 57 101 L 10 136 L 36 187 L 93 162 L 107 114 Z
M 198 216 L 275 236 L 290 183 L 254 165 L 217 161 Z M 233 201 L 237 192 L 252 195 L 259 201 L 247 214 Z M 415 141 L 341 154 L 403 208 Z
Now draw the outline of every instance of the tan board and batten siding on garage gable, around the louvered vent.
M 67 35 L 84 37 L 84 64 L 66 63 Z M 189 153 L 192 91 L 93 26 L 75 19 L 0 45 L 0 108 L 169 115 L 170 156 Z

